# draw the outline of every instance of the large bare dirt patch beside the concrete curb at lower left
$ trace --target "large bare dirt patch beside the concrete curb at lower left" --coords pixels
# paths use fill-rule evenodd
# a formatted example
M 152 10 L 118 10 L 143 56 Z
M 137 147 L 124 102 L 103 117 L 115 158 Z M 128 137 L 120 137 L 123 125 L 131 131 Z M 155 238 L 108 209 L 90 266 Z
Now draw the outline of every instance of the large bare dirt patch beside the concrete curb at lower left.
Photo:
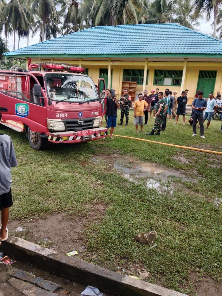
M 8 226 L 12 235 L 63 253 L 76 250 L 81 257 L 81 253 L 86 251 L 82 233 L 88 224 L 101 219 L 106 207 L 104 202 L 99 202 L 92 205 L 84 217 L 70 217 L 63 212 L 43 219 L 33 218 L 28 222 L 9 221 Z M 16 231 L 18 227 L 22 231 Z

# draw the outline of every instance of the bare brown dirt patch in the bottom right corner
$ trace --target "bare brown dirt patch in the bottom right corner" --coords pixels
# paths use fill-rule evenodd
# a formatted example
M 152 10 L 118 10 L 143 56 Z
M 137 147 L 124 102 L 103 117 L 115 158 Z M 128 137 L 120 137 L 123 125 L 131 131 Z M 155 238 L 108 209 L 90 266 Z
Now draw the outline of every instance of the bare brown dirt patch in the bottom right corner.
M 194 284 L 194 293 L 199 296 L 221 296 L 222 282 L 218 283 L 214 279 L 205 276 L 200 280 L 200 275 L 196 271 L 190 273 L 190 281 Z

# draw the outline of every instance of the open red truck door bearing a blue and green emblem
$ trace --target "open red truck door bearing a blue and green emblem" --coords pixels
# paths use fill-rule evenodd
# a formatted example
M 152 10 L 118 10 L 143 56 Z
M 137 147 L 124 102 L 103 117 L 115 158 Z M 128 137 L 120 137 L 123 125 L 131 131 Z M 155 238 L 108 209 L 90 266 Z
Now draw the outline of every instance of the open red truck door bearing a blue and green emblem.
M 47 131 L 45 101 L 44 99 L 41 101 L 33 94 L 33 86 L 39 84 L 38 80 L 31 73 L 7 72 L 7 74 L 9 74 L 8 89 L 2 90 L 0 105 L 8 111 L 4 112 L 2 119 L 7 121 L 11 128 L 20 127 L 20 131 L 24 131 L 24 125 L 27 125 L 32 131 L 45 133 Z M 42 96 L 44 96 L 43 91 Z

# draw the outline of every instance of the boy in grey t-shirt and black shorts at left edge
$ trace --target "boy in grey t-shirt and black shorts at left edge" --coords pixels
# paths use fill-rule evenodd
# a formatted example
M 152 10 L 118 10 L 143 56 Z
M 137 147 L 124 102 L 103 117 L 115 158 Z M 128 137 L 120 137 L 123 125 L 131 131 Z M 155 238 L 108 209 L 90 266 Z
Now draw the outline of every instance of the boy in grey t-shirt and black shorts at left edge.
M 12 144 L 12 139 L 8 135 L 0 133 L 0 245 L 1 242 L 6 241 L 9 236 L 9 231 L 6 226 L 9 220 L 9 207 L 11 207 L 13 204 L 11 192 L 11 167 L 16 166 L 17 160 L 15 157 L 15 150 Z

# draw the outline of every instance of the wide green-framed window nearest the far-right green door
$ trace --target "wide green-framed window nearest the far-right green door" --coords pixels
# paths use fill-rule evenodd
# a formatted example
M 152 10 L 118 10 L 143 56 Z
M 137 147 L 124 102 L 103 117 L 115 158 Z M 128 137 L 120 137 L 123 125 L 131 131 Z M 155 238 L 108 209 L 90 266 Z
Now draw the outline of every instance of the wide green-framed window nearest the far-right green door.
M 183 70 L 155 70 L 153 85 L 181 86 Z

